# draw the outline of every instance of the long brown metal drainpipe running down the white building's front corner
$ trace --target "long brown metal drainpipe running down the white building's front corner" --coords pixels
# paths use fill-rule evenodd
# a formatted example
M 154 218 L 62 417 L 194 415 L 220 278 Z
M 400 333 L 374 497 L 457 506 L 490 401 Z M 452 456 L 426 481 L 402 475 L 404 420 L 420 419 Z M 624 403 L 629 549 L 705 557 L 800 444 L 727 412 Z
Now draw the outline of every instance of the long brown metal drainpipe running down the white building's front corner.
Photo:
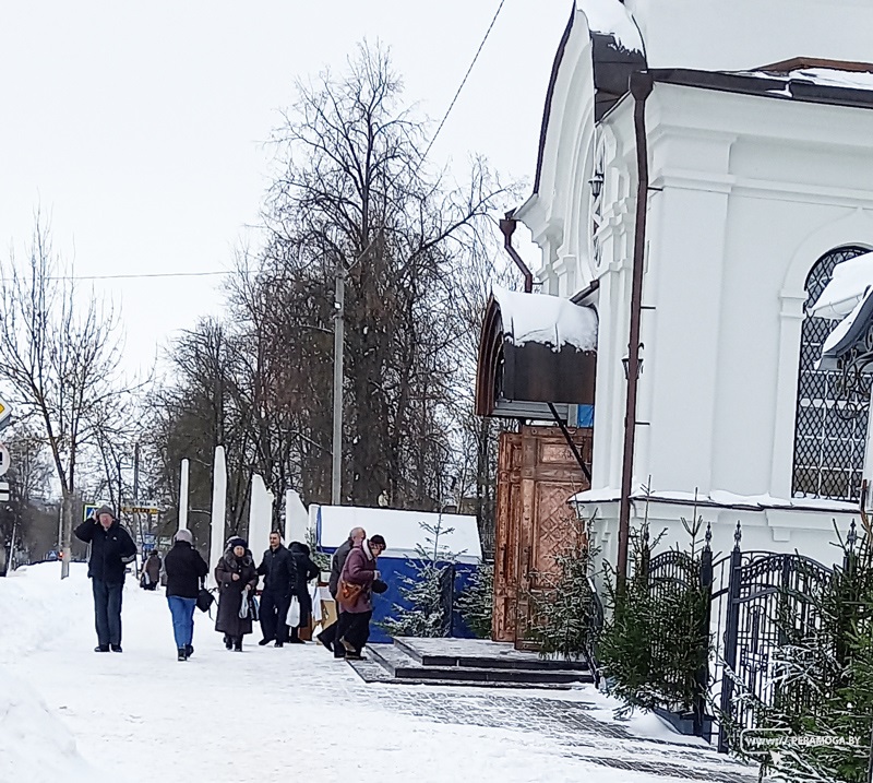
M 648 210 L 648 144 L 646 139 L 646 98 L 653 90 L 651 74 L 643 71 L 631 75 L 634 98 L 634 135 L 636 140 L 636 226 L 634 229 L 633 280 L 631 284 L 631 333 L 627 345 L 627 399 L 624 411 L 624 458 L 621 472 L 619 508 L 619 556 L 615 563 L 619 585 L 627 578 L 627 547 L 631 538 L 631 494 L 634 476 L 634 441 L 636 438 L 636 392 L 639 378 L 639 316 L 643 308 L 643 268 L 646 252 L 646 216 Z

